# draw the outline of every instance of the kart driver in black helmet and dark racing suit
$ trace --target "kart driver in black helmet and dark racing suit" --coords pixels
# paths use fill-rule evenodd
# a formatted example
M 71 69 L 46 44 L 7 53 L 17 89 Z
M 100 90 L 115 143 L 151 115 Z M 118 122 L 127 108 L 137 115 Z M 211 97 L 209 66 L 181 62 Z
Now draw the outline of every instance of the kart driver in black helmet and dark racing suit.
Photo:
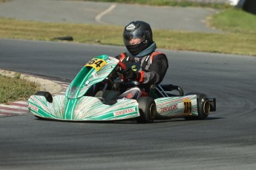
M 117 55 L 127 69 L 122 71 L 125 79 L 139 81 L 140 85 L 125 89 L 118 98 L 138 99 L 142 90 L 147 92 L 152 84 L 160 84 L 168 69 L 168 60 L 162 52 L 155 51 L 151 27 L 144 21 L 132 21 L 122 34 L 128 53 Z M 140 88 L 139 88 L 140 87 Z

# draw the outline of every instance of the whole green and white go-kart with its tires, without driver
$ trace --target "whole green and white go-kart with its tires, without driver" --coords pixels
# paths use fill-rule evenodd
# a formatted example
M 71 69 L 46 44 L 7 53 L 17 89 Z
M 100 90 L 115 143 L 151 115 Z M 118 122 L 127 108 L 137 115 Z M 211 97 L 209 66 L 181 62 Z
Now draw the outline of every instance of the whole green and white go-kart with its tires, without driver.
M 151 85 L 137 100 L 115 98 L 124 86 L 140 86 L 124 80 L 125 65 L 108 55 L 88 61 L 68 86 L 65 95 L 36 92 L 28 99 L 28 110 L 37 118 L 72 121 L 137 120 L 183 117 L 186 120 L 207 118 L 216 110 L 216 99 L 200 93 L 184 95 L 180 86 Z M 115 102 L 113 102 L 115 101 Z

